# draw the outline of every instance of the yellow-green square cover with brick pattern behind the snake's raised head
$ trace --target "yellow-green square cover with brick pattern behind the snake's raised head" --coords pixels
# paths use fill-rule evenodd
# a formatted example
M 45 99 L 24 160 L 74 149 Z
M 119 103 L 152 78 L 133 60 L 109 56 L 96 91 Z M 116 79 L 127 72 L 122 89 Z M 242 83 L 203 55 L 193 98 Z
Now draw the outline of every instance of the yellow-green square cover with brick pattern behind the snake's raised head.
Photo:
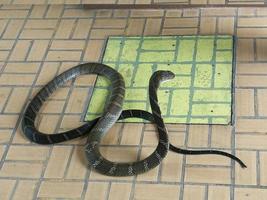
M 124 77 L 123 109 L 151 112 L 149 78 L 156 70 L 170 70 L 175 78 L 158 90 L 165 123 L 230 124 L 233 58 L 233 36 L 116 36 L 108 38 L 102 61 Z M 108 88 L 109 82 L 98 76 L 86 120 L 101 115 Z

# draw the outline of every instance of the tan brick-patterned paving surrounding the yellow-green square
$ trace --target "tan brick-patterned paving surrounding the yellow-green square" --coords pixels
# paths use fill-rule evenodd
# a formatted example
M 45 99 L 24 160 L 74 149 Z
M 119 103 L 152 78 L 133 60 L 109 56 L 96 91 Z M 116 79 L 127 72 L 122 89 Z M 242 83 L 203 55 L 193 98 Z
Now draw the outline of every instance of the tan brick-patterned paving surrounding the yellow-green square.
M 0 9 L 0 199 L 235 199 L 267 195 L 267 9 L 83 10 L 73 5 Z M 196 23 L 191 23 L 196 21 Z M 53 146 L 30 143 L 20 129 L 29 99 L 60 72 L 99 61 L 109 35 L 234 34 L 237 72 L 234 126 L 168 125 L 185 148 L 232 152 L 227 158 L 169 153 L 154 170 L 114 178 L 86 169 L 85 138 Z M 54 133 L 83 123 L 95 76 L 69 82 L 44 106 L 37 125 Z M 134 161 L 153 151 L 153 125 L 116 124 L 101 151 Z M 149 191 L 149 192 L 148 192 Z

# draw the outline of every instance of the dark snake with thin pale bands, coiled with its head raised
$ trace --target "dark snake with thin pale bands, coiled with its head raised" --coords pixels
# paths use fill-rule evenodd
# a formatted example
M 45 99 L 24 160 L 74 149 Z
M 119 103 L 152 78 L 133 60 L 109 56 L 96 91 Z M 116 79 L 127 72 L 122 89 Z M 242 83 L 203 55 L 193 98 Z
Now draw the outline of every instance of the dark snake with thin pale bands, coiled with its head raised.
M 49 96 L 67 81 L 83 74 L 97 74 L 108 78 L 111 82 L 110 97 L 101 117 L 89 121 L 82 126 L 56 134 L 39 132 L 35 127 L 36 116 L 43 103 Z M 25 136 L 32 142 L 38 144 L 55 144 L 88 135 L 85 146 L 86 158 L 89 166 L 101 174 L 109 176 L 132 176 L 144 173 L 160 164 L 170 149 L 173 152 L 188 155 L 218 154 L 227 156 L 237 161 L 241 167 L 246 165 L 232 154 L 218 150 L 185 150 L 169 143 L 167 129 L 161 117 L 157 89 L 161 82 L 174 78 L 170 71 L 157 71 L 150 78 L 149 99 L 152 114 L 143 110 L 122 110 L 125 84 L 123 77 L 116 70 L 100 63 L 84 63 L 73 67 L 58 75 L 47 83 L 30 101 L 22 118 L 22 130 Z M 99 144 L 103 136 L 117 122 L 126 118 L 142 118 L 154 122 L 157 126 L 159 142 L 155 151 L 147 158 L 132 163 L 116 163 L 105 159 L 100 151 Z

